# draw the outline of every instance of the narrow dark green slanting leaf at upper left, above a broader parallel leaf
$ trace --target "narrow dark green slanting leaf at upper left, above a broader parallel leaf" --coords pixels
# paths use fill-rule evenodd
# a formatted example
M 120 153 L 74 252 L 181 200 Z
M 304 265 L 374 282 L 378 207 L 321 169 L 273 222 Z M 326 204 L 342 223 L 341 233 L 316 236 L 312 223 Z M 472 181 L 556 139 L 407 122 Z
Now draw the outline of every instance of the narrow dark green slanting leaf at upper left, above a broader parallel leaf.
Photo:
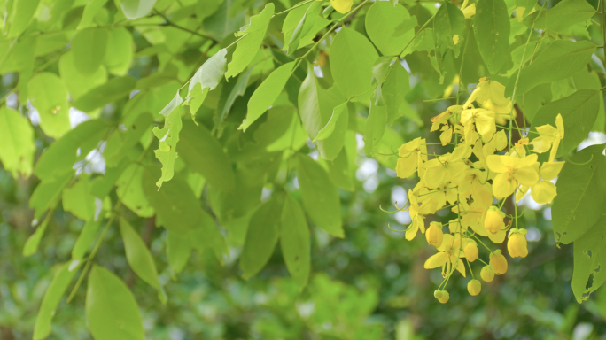
M 113 78 L 76 99 L 74 106 L 84 112 L 91 112 L 106 104 L 113 103 L 121 97 L 127 97 L 135 89 L 135 86 L 136 80 L 130 75 Z

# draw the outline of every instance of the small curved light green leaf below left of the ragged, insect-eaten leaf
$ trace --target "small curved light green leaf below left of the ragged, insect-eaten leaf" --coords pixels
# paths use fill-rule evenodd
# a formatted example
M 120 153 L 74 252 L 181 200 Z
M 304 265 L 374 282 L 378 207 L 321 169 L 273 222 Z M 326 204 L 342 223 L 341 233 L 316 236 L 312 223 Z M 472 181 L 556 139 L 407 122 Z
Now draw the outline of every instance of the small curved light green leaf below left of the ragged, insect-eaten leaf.
M 145 197 L 143 189 L 144 167 L 136 163 L 128 166 L 116 182 L 116 194 L 128 209 L 138 216 L 151 217 L 154 214 L 153 207 Z

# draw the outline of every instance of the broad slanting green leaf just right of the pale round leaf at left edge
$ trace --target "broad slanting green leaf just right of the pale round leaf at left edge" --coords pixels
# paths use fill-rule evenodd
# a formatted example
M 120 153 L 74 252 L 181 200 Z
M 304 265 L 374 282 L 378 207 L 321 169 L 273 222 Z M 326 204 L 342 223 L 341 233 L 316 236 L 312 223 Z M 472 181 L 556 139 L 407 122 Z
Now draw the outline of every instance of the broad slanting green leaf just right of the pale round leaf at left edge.
M 34 174 L 44 182 L 70 172 L 77 160 L 97 147 L 109 129 L 105 120 L 83 122 L 44 151 L 35 164 Z

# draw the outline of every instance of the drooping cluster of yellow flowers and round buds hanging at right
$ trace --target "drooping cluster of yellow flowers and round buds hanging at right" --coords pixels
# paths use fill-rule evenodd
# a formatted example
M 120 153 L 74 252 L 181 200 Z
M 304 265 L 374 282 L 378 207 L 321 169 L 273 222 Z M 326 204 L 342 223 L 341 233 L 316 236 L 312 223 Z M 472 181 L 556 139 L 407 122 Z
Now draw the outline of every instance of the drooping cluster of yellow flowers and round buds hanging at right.
M 472 275 L 468 283 L 470 295 L 479 294 L 481 283 L 473 278 L 470 265 L 476 260 L 484 264 L 480 277 L 485 282 L 492 282 L 495 274 L 507 272 L 507 259 L 491 244 L 503 243 L 508 232 L 509 256 L 528 255 L 526 230 L 517 228 L 517 213 L 503 212 L 509 197 L 515 193 L 519 201 L 530 190 L 536 202 L 545 204 L 557 194 L 551 181 L 563 166 L 563 162 L 554 162 L 564 135 L 562 116 L 557 115 L 556 127 L 547 124 L 528 132 L 537 136 L 532 142 L 523 137 L 511 143 L 515 120 L 511 100 L 504 97 L 504 90 L 499 82 L 482 78 L 465 104 L 450 106 L 431 119 L 431 131 L 441 131 L 440 143 L 451 145 L 451 152 L 428 153 L 428 143 L 423 138 L 405 143 L 398 150 L 398 176 L 419 177 L 416 187 L 408 190 L 409 205 L 398 211 L 410 213 L 412 222 L 405 230 L 406 239 L 413 240 L 420 231 L 437 250 L 424 267 L 441 268 L 444 281 L 434 294 L 441 303 L 447 303 L 450 297 L 446 286 L 452 274 L 458 271 L 466 277 L 466 267 Z M 508 120 L 506 128 L 503 125 Z M 548 151 L 548 161 L 540 164 L 538 154 Z M 456 218 L 447 226 L 439 222 L 426 226 L 428 216 L 442 209 L 450 209 Z M 478 245 L 488 251 L 488 259 L 481 259 Z

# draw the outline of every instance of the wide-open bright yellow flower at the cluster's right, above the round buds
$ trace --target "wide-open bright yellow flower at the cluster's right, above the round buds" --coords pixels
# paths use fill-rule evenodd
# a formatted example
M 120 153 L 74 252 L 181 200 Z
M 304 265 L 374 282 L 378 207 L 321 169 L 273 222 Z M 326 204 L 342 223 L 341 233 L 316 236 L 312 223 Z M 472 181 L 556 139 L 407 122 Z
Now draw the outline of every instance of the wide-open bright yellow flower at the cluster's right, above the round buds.
M 537 155 L 524 158 L 512 156 L 490 155 L 486 164 L 497 176 L 493 180 L 493 194 L 499 199 L 513 194 L 518 184 L 531 186 L 539 181 L 539 174 L 533 167 L 537 163 Z

